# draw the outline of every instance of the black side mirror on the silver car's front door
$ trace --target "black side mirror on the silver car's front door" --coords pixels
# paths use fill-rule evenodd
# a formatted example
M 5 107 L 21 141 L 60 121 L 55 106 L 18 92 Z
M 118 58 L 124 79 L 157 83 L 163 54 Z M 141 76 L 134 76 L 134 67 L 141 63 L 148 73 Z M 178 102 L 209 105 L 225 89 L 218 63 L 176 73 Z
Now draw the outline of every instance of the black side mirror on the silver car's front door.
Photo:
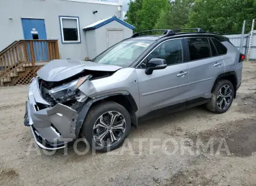
M 151 75 L 154 70 L 164 69 L 167 67 L 166 60 L 160 58 L 152 58 L 146 64 L 146 75 Z

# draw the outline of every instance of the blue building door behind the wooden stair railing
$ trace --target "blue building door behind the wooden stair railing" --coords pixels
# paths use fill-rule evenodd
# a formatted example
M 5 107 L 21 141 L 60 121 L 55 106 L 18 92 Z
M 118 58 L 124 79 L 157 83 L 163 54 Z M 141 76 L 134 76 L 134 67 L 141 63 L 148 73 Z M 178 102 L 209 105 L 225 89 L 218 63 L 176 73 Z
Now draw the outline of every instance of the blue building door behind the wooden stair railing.
M 33 39 L 35 61 L 48 60 L 47 43 L 42 39 L 46 37 L 46 26 L 44 19 L 24 19 L 22 18 L 24 39 Z M 36 41 L 38 40 L 38 41 Z M 31 61 L 31 52 L 28 44 L 28 59 Z

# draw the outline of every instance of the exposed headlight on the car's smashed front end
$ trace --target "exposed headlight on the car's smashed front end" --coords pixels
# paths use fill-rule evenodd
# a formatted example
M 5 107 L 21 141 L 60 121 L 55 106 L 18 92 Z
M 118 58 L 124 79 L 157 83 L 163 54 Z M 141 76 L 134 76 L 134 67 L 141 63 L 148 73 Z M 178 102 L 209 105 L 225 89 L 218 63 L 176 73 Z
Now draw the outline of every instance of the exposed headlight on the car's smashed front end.
M 66 102 L 76 98 L 76 95 L 79 93 L 79 86 L 81 86 L 87 79 L 88 76 L 79 78 L 78 80 L 71 81 L 67 84 L 57 86 L 49 90 L 49 94 L 56 102 Z

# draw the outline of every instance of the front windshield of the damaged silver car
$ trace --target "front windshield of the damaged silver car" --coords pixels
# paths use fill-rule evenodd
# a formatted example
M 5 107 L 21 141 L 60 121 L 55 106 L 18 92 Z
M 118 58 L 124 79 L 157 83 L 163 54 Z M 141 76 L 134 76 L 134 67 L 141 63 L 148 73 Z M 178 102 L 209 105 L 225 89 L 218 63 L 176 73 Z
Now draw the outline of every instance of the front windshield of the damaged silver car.
M 152 43 L 152 40 L 124 40 L 95 57 L 93 61 L 129 67 Z

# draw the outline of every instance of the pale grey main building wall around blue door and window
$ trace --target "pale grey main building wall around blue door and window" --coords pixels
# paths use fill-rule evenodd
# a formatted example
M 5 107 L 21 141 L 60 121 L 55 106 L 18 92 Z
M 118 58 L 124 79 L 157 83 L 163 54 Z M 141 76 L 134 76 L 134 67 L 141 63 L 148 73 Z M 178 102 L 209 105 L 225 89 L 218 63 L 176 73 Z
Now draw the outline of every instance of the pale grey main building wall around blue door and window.
M 98 13 L 93 14 L 94 10 Z M 79 16 L 81 43 L 61 43 L 59 15 Z M 47 38 L 59 38 L 62 59 L 84 59 L 88 53 L 82 27 L 113 15 L 120 16 L 117 5 L 64 0 L 0 0 L 0 51 L 14 40 L 24 39 L 21 18 L 38 18 L 45 21 Z

